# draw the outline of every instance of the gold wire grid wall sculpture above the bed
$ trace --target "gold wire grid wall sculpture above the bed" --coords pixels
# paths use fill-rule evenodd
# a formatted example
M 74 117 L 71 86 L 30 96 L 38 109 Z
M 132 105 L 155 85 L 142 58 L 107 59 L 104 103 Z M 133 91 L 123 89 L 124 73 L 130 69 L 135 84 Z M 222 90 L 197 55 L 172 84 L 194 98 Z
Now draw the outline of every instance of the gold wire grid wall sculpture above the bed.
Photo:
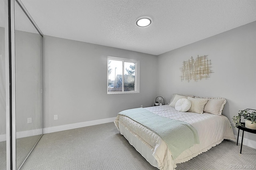
M 210 73 L 212 72 L 211 68 L 211 60 L 208 59 L 208 55 L 197 56 L 196 59 L 191 57 L 188 61 L 183 61 L 183 66 L 180 68 L 182 72 L 181 81 L 197 81 L 201 79 L 207 79 L 210 77 Z

